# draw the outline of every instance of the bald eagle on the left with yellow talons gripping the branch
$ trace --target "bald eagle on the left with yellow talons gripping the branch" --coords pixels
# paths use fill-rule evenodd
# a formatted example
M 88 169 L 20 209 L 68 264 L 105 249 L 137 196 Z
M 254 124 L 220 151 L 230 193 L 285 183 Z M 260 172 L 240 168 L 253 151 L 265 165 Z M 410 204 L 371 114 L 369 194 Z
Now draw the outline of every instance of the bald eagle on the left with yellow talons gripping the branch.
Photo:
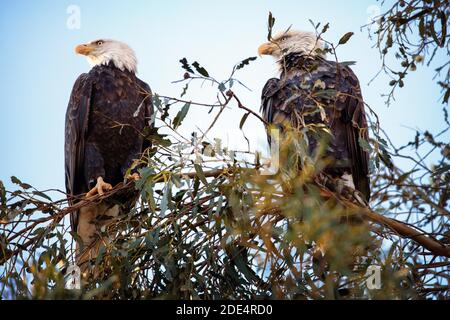
M 83 194 L 101 195 L 125 179 L 137 179 L 136 171 L 125 175 L 150 146 L 142 132 L 153 125 L 150 87 L 136 77 L 137 60 L 128 45 L 96 40 L 75 52 L 86 56 L 92 69 L 76 80 L 66 113 L 65 177 L 71 204 Z M 72 231 L 91 246 L 84 253 L 77 249 L 78 265 L 96 255 L 98 245 L 92 246 L 105 221 L 121 214 L 115 200 L 72 213 Z

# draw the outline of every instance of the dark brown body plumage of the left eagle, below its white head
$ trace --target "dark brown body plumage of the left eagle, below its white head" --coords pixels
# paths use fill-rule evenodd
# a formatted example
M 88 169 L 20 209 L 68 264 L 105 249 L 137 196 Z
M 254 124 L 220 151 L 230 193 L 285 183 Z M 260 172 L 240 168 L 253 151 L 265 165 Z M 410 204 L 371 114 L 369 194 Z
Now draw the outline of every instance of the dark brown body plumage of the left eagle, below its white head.
M 68 195 L 76 197 L 86 193 L 94 187 L 98 177 L 113 186 L 123 182 L 127 169 L 150 145 L 142 132 L 152 126 L 152 115 L 150 88 L 134 73 L 108 64 L 95 66 L 89 73 L 82 74 L 75 82 L 66 113 Z M 71 203 L 74 202 L 72 197 Z M 99 211 L 97 209 L 91 211 Z M 93 231 L 80 230 L 80 226 L 89 225 L 79 221 L 79 214 L 71 215 L 72 230 L 82 236 L 84 244 L 89 244 Z M 83 211 L 83 215 L 92 214 Z

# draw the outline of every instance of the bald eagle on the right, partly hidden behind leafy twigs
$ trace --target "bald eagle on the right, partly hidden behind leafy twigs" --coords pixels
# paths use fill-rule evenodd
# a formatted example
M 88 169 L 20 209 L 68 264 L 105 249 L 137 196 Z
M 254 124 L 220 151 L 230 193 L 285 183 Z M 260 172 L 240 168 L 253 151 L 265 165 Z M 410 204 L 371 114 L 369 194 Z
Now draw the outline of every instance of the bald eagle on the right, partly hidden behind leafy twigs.
M 264 86 L 261 112 L 276 125 L 324 124 L 332 134 L 327 156 L 333 160 L 325 172 L 368 201 L 369 154 L 359 143 L 367 141 L 368 130 L 359 81 L 347 64 L 326 60 L 324 52 L 312 32 L 282 32 L 262 44 L 258 53 L 277 59 L 281 75 Z M 307 137 L 312 151 L 317 141 Z

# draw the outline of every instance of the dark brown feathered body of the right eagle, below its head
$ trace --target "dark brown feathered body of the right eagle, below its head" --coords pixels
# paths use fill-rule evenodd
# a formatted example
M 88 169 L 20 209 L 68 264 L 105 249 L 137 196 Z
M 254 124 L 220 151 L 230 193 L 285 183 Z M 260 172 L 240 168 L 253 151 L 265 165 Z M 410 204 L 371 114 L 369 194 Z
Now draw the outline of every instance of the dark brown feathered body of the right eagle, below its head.
M 308 73 L 290 72 L 282 74 L 281 79 L 269 79 L 261 96 L 261 112 L 268 123 L 281 125 L 285 120 L 293 121 L 294 110 L 303 111 L 305 105 L 314 105 L 307 96 L 314 91 L 320 80 L 320 90 L 336 90 L 338 97 L 331 101 L 322 100 L 326 108 L 337 152 L 347 154 L 350 158 L 350 169 L 355 184 L 366 199 L 370 196 L 369 154 L 359 144 L 359 138 L 368 139 L 364 102 L 359 81 L 348 66 L 323 61 L 318 68 Z M 315 120 L 321 121 L 317 116 Z M 270 136 L 268 135 L 270 144 Z

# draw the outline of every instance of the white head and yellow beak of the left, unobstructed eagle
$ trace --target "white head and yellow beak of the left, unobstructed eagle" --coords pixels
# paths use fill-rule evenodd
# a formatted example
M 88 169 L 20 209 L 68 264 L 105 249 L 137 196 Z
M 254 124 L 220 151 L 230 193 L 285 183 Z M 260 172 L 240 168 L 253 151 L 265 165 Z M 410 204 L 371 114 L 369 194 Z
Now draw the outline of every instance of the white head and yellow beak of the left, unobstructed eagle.
M 122 71 L 137 72 L 137 59 L 133 49 L 120 41 L 99 39 L 76 46 L 75 52 L 86 56 L 91 66 L 112 62 Z

